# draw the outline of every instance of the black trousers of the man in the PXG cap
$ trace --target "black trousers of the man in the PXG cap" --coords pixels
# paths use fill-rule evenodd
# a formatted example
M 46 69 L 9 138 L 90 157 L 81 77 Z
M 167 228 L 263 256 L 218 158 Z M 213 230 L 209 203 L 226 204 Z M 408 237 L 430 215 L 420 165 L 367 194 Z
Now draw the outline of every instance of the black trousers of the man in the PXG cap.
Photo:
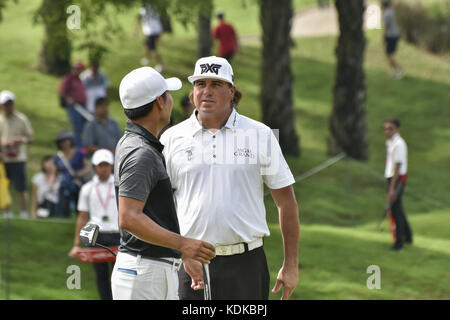
M 212 300 L 268 300 L 270 274 L 263 247 L 233 256 L 216 256 L 209 265 Z M 203 300 L 191 289 L 191 277 L 178 272 L 180 300 Z

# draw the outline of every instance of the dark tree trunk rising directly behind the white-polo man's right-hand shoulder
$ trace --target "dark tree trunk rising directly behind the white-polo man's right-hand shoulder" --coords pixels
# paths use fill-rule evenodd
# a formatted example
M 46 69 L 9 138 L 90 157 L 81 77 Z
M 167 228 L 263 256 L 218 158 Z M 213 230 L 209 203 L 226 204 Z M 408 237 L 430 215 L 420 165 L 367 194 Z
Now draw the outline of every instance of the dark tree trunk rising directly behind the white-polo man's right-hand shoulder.
M 299 138 L 293 112 L 293 76 L 291 72 L 291 0 L 261 0 L 263 30 L 261 107 L 262 119 L 279 129 L 284 154 L 299 156 Z

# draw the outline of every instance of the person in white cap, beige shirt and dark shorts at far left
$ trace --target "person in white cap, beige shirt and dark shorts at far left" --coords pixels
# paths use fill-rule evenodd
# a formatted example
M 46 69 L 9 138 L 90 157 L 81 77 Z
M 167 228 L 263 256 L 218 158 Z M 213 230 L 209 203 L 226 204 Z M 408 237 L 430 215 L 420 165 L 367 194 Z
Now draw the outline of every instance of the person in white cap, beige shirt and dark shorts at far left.
M 0 93 L 0 147 L 6 175 L 19 196 L 20 216 L 28 218 L 27 147 L 33 140 L 33 128 L 27 116 L 14 108 L 15 96 L 11 91 Z M 11 207 L 5 208 L 6 217 L 13 217 Z

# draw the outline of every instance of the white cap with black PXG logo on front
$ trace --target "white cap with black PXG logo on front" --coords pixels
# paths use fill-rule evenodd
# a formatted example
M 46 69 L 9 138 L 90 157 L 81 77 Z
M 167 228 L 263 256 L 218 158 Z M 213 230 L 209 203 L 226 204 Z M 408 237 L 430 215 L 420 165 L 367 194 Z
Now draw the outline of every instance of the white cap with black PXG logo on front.
M 194 74 L 188 77 L 192 84 L 199 79 L 219 79 L 234 85 L 233 68 L 224 58 L 203 57 L 197 60 Z

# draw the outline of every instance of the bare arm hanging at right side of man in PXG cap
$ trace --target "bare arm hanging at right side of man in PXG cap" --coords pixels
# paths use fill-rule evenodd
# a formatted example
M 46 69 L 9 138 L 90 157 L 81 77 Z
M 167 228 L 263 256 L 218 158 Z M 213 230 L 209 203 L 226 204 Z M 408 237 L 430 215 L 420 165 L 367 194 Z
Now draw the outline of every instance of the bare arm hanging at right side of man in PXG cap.
M 277 282 L 272 292 L 277 293 L 282 286 L 281 299 L 290 297 L 298 283 L 298 244 L 300 238 L 300 221 L 298 205 L 292 186 L 270 190 L 278 208 L 281 234 L 283 237 L 284 261 Z

